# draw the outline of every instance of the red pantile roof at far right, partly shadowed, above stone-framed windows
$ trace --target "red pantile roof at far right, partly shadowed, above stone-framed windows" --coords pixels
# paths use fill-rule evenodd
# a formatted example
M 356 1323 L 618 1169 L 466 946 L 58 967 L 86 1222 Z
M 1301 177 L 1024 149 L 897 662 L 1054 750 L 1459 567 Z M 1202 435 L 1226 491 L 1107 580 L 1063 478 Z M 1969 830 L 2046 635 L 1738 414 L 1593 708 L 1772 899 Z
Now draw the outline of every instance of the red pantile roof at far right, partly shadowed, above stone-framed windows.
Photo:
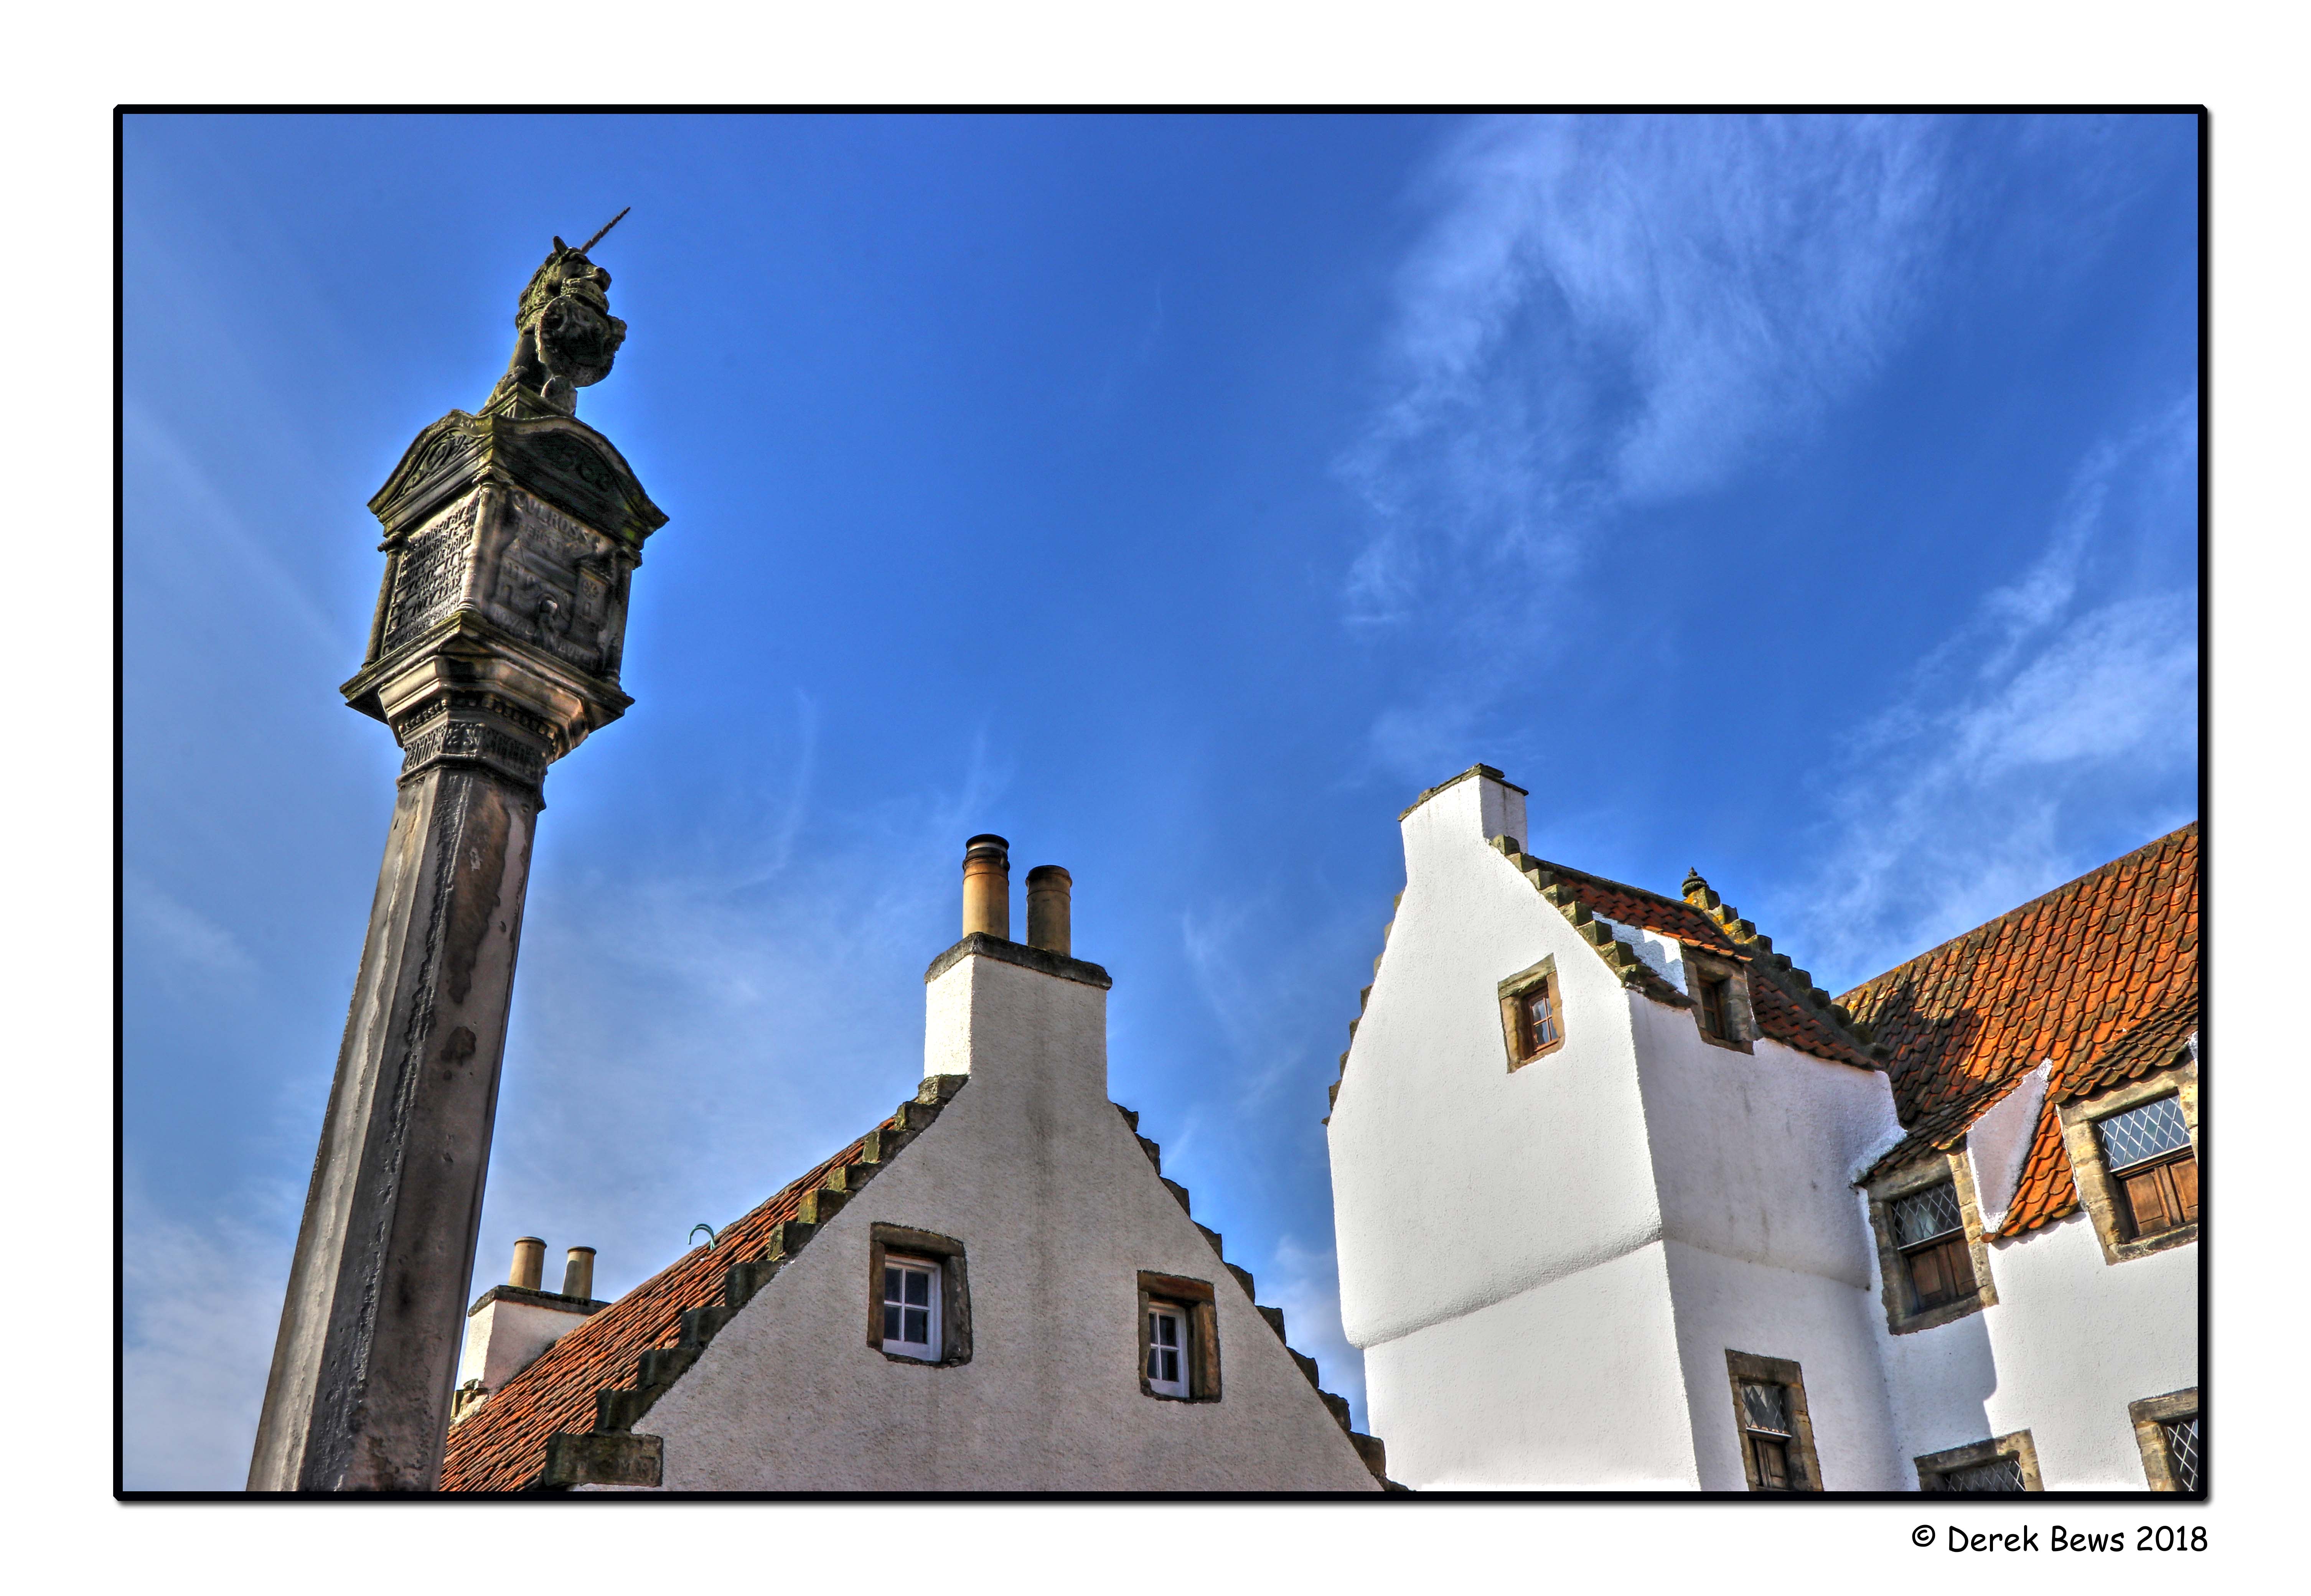
M 1842 1007 L 1890 1049 L 1909 1129 L 1865 1178 L 1955 1146 L 2018 1076 L 2052 1060 L 1999 1233 L 2078 1208 L 2054 1109 L 2172 1065 L 2198 1028 L 2198 864 L 2193 820 L 1849 991 Z

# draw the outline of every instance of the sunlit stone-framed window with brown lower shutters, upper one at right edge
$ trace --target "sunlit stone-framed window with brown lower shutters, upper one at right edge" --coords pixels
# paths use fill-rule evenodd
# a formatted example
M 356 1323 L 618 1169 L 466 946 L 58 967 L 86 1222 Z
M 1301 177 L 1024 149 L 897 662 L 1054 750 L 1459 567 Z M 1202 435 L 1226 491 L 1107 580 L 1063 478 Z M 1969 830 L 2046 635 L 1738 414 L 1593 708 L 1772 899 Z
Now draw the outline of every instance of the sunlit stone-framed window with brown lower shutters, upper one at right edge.
M 2057 1106 L 2078 1201 L 2105 1263 L 2198 1240 L 2198 1060 Z

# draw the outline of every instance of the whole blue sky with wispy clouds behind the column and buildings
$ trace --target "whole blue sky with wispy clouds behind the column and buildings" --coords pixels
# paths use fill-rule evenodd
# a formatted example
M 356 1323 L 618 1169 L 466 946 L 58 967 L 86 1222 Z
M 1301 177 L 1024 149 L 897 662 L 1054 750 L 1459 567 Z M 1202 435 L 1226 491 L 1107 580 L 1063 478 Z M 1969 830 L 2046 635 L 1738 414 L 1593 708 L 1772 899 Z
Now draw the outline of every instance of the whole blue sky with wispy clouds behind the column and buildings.
M 885 1113 L 964 836 L 1333 1388 L 1324 1086 L 1472 760 L 1826 986 L 2193 818 L 2186 118 L 134 118 L 127 1481 L 238 1485 L 397 753 L 365 499 L 504 370 L 668 510 L 548 778 L 478 1280 Z M 548 157 L 550 155 L 550 157 Z

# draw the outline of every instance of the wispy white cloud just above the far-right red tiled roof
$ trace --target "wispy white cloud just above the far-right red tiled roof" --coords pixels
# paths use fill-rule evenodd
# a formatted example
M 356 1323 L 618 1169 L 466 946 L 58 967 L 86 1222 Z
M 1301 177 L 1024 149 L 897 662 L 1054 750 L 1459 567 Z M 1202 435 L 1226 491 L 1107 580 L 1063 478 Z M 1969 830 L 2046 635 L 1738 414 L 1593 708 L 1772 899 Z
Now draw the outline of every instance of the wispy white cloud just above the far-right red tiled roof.
M 1826 982 L 1877 975 L 2195 813 L 2177 799 L 2198 762 L 2195 591 L 2135 577 L 2140 545 L 2195 529 L 2195 473 L 2193 402 L 2094 448 L 2029 570 L 1840 748 L 1821 868 L 1775 910 Z

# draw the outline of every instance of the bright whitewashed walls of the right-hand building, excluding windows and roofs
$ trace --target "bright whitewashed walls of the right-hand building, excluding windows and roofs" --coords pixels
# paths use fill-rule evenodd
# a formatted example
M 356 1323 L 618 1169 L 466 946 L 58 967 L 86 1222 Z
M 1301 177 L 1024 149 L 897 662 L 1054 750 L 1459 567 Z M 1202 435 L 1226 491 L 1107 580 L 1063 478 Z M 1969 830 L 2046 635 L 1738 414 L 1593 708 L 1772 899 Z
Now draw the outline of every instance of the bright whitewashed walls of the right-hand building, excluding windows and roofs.
M 1488 776 L 1405 818 L 1331 1113 L 1340 1307 L 1391 1474 L 1742 1490 L 1731 1349 L 1803 1367 L 1828 1490 L 1916 1490 L 1916 1455 L 2024 1427 L 2048 1487 L 2140 1490 L 2126 1404 L 2198 1381 L 2195 1247 L 2105 1266 L 2078 1217 L 1992 1250 L 1994 1307 L 1890 1335 L 1851 1187 L 1902 1134 L 1886 1076 L 1703 1042 L 1622 989 L 1500 834 L 1525 838 L 1523 795 Z M 1567 1042 L 1511 1074 L 1495 989 L 1544 954 Z M 1987 1127 L 1990 1187 L 2013 1141 Z

